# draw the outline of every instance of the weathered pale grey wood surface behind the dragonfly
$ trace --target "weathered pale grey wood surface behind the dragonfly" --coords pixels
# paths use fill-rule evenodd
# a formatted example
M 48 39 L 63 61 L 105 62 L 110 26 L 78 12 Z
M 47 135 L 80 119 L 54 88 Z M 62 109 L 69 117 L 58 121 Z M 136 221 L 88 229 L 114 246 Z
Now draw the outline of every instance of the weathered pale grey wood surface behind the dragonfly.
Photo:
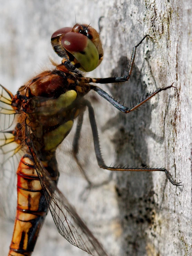
M 59 186 L 111 255 L 192 255 L 191 1 L 1 0 L 0 4 L 0 83 L 13 93 L 35 72 L 50 67 L 48 56 L 57 59 L 50 36 L 75 23 L 75 14 L 77 22 L 95 28 L 104 16 L 104 60 L 88 74 L 92 77 L 120 74 L 132 47 L 143 35 L 151 36 L 137 50 L 130 81 L 101 87 L 127 105 L 156 87 L 174 82 L 177 88 L 158 94 L 141 111 L 127 115 L 96 94 L 91 94 L 91 102 L 107 164 L 164 166 L 183 187 L 172 186 L 162 172 L 114 173 L 106 185 L 91 190 L 81 178 L 64 176 Z M 99 171 L 93 147 L 87 147 L 92 143 L 90 127 L 84 124 L 82 159 L 87 170 L 98 172 L 91 177 L 100 182 L 109 172 Z M 13 222 L 1 220 L 1 255 L 8 253 L 12 229 Z M 33 255 L 87 254 L 64 241 L 49 215 Z

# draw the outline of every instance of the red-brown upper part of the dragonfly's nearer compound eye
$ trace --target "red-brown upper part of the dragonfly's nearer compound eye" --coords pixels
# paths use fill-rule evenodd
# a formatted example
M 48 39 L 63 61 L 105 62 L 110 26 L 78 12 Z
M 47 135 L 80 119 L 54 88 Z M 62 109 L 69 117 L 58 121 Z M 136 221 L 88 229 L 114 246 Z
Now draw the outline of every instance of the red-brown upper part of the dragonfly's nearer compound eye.
M 68 52 L 82 52 L 87 47 L 88 38 L 76 32 L 69 32 L 62 36 L 61 44 Z

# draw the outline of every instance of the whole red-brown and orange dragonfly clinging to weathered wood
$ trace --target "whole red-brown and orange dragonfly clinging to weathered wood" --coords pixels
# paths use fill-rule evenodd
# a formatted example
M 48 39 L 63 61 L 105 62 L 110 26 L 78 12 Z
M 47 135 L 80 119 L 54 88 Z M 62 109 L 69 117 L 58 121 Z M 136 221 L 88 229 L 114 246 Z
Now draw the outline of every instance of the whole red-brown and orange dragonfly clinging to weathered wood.
M 54 51 L 62 58 L 53 69 L 38 74 L 13 95 L 0 85 L 0 152 L 3 157 L 1 174 L 6 173 L 7 163 L 21 157 L 17 167 L 17 208 L 14 232 L 8 256 L 30 256 L 38 234 L 50 210 L 55 225 L 72 245 L 94 256 L 107 256 L 102 244 L 94 237 L 75 208 L 57 187 L 59 169 L 56 149 L 70 133 L 77 119 L 72 147 L 74 161 L 86 174 L 79 161 L 79 138 L 84 112 L 88 109 L 97 163 L 100 168 L 111 171 L 162 171 L 169 181 L 176 183 L 165 168 L 111 167 L 103 160 L 99 145 L 94 109 L 85 95 L 94 90 L 122 113 L 138 109 L 161 91 L 173 84 L 157 88 L 128 107 L 117 102 L 95 84 L 124 83 L 129 80 L 137 47 L 133 47 L 131 62 L 126 75 L 107 78 L 89 78 L 89 72 L 100 65 L 103 48 L 99 33 L 87 24 L 75 24 L 55 31 L 51 37 Z M 12 165 L 12 169 L 16 167 Z M 15 170 L 11 170 L 15 171 Z M 3 175 L 1 175 L 3 177 Z M 11 176 L 10 176 L 11 177 Z M 7 177 L 9 179 L 9 175 Z

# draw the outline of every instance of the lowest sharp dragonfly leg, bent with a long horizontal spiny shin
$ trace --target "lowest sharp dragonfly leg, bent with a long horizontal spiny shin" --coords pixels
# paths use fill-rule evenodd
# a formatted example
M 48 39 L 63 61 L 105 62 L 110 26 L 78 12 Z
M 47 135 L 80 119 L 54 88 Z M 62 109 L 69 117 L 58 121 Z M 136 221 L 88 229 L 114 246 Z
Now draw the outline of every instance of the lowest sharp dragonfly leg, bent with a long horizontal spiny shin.
M 100 168 L 106 169 L 106 170 L 111 170 L 111 171 L 163 171 L 166 173 L 167 178 L 169 179 L 169 181 L 175 185 L 175 186 L 182 186 L 180 185 L 181 182 L 176 183 L 173 181 L 173 179 L 171 178 L 171 174 L 165 169 L 165 168 L 129 168 L 129 167 L 121 167 L 121 166 L 117 166 L 117 167 L 111 167 L 111 166 L 107 166 L 104 163 L 102 154 L 101 154 L 101 150 L 100 150 L 100 145 L 99 145 L 99 137 L 98 137 L 98 131 L 97 131 L 97 125 L 96 125 L 96 120 L 95 120 L 95 114 L 94 114 L 94 109 L 91 106 L 89 101 L 85 101 L 86 106 L 88 107 L 88 111 L 89 111 L 89 120 L 90 120 L 90 124 L 91 124 L 91 129 L 92 129 L 92 133 L 93 133 L 93 141 L 94 141 L 94 148 L 95 148 L 95 154 L 96 154 L 96 158 L 97 158 L 97 163 L 99 165 Z

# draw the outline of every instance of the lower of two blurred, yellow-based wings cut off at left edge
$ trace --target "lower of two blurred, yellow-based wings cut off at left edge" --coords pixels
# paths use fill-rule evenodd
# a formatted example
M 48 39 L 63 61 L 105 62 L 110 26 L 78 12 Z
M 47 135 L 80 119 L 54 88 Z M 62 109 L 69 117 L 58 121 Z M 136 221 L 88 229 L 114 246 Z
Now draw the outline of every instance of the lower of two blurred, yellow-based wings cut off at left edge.
M 0 132 L 0 213 L 14 219 L 17 191 L 16 170 L 21 155 L 21 146 L 15 142 L 12 132 Z

